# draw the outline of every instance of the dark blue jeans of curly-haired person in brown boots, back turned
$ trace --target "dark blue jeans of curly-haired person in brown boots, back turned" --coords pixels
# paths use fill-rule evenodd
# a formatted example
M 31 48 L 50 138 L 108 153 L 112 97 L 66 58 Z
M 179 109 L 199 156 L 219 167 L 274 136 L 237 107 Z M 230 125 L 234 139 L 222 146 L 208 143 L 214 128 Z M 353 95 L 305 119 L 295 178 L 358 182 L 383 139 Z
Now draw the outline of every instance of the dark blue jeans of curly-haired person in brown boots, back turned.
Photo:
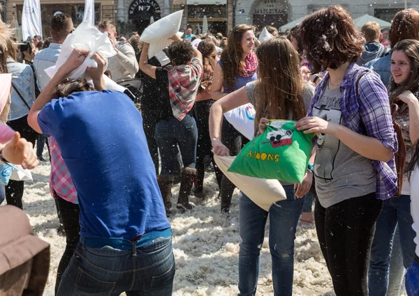
M 161 175 L 172 175 L 179 171 L 177 153 L 179 146 L 184 167 L 195 169 L 196 143 L 198 142 L 198 128 L 195 119 L 186 114 L 182 121 L 174 116 L 161 120 L 156 125 L 154 134 L 161 157 Z

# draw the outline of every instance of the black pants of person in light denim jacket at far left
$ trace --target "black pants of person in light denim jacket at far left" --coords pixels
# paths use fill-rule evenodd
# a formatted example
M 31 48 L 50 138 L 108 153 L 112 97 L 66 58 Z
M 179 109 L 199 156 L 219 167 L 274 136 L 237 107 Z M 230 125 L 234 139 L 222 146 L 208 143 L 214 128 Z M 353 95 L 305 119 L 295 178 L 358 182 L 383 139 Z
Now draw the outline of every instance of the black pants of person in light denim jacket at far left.
M 16 132 L 20 133 L 20 137 L 31 142 L 35 145 L 36 137 L 38 133 L 35 132 L 32 127 L 28 125 L 28 116 L 16 120 L 10 120 L 7 125 L 13 128 Z M 24 181 L 9 180 L 6 185 L 6 201 L 8 205 L 15 205 L 17 208 L 23 209 L 22 197 L 23 197 Z

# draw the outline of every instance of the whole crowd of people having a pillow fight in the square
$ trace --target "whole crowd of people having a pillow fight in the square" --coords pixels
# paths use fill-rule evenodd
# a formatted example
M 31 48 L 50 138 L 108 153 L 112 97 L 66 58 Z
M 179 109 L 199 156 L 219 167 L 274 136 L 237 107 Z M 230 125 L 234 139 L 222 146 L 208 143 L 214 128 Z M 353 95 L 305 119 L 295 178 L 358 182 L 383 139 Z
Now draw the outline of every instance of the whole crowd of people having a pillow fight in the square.
M 47 139 L 50 193 L 66 237 L 56 295 L 172 295 L 170 218 L 193 215 L 189 197 L 205 199 L 208 171 L 220 215 L 230 215 L 235 185 L 213 153 L 234 156 L 249 142 L 223 116 L 249 103 L 255 137 L 269 119 L 294 120 L 316 136 L 302 182 L 279 180 L 284 201 L 266 211 L 240 193 L 239 295 L 256 295 L 268 217 L 274 295 L 293 293 L 299 223 L 316 227 L 337 296 L 399 295 L 406 270 L 406 291 L 418 295 L 416 10 L 399 11 L 390 28 L 368 22 L 359 30 L 344 8 L 329 6 L 285 33 L 267 26 L 268 40 L 248 24 L 227 38 L 189 28 L 155 56 L 140 34 L 126 40 L 105 20 L 97 28 L 116 55 L 91 56 L 98 65 L 87 68 L 91 84 L 68 78 L 87 49 L 46 74 L 74 31 L 62 13 L 51 28 L 47 40 L 17 45 L 0 26 L 0 73 L 13 77 L 0 120 L 18 132 L 0 159 L 32 169 L 45 161 Z M 126 91 L 107 90 L 104 74 Z M 10 180 L 5 192 L 8 205 L 23 209 L 24 181 Z

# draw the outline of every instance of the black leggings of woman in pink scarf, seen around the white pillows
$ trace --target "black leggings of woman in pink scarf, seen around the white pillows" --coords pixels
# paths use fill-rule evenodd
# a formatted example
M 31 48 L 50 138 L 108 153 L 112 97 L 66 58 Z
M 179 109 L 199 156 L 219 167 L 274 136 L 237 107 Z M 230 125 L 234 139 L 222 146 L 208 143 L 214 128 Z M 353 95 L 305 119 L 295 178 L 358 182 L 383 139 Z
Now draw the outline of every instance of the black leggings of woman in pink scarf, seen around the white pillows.
M 231 156 L 239 154 L 243 146 L 249 142 L 249 140 L 243 137 L 240 132 L 237 132 L 233 125 L 228 123 L 226 118 L 223 118 L 221 141 L 230 150 Z M 235 185 L 233 182 L 223 175 L 220 188 L 221 212 L 230 210 L 231 197 L 233 196 L 234 189 Z

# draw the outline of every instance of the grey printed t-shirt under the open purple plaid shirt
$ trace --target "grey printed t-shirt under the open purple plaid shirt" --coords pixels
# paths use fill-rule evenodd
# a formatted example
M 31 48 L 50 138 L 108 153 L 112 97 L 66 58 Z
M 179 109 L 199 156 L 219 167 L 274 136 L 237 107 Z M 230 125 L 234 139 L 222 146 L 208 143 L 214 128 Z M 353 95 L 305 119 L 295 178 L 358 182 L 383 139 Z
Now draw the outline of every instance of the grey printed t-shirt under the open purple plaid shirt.
M 325 88 L 314 104 L 312 115 L 344 125 L 339 87 Z M 355 153 L 330 134 L 317 134 L 314 176 L 318 201 L 324 208 L 376 191 L 376 170 L 372 160 Z

